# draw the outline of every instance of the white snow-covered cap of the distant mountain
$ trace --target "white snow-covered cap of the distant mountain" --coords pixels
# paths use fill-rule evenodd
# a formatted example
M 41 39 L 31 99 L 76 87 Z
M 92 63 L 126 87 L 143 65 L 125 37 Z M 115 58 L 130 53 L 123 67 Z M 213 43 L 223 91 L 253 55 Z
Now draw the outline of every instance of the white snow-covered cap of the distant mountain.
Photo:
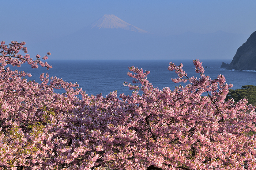
M 123 20 L 121 20 L 120 18 L 118 18 L 115 15 L 103 15 L 101 18 L 99 18 L 98 20 L 94 21 L 93 23 L 91 23 L 88 26 L 90 29 L 93 28 L 98 28 L 98 29 L 102 29 L 102 28 L 108 28 L 108 29 L 125 29 L 128 31 L 134 31 L 134 32 L 139 32 L 139 33 L 149 33 L 143 29 L 140 29 L 138 27 L 135 27 Z

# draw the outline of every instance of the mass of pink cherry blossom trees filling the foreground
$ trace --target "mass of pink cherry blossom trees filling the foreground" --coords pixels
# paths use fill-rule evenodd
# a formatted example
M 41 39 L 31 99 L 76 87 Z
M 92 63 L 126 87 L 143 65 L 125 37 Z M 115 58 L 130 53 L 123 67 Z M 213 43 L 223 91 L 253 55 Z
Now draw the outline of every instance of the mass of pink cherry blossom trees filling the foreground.
M 89 96 L 78 84 L 48 74 L 41 83 L 27 81 L 29 74 L 6 67 L 50 68 L 40 55 L 18 54 L 27 52 L 24 44 L 0 46 L 0 169 L 256 169 L 255 107 L 225 102 L 231 85 L 222 75 L 204 75 L 199 60 L 193 60 L 199 78 L 170 63 L 178 74 L 173 82 L 188 81 L 185 87 L 160 90 L 148 82 L 149 71 L 132 66 L 135 84 L 124 83 L 131 96 Z

